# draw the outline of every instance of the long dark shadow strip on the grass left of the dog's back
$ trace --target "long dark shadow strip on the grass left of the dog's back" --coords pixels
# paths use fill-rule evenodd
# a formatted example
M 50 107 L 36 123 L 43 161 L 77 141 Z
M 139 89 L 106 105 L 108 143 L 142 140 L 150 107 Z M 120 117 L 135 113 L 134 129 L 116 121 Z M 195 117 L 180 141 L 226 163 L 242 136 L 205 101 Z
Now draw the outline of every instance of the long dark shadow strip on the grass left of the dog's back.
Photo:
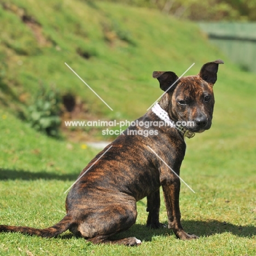
M 30 172 L 25 170 L 11 170 L 0 168 L 0 180 L 6 179 L 21 179 L 24 181 L 34 181 L 36 179 L 57 179 L 59 181 L 75 181 L 79 172 L 75 174 L 57 174 L 52 172 L 40 171 Z

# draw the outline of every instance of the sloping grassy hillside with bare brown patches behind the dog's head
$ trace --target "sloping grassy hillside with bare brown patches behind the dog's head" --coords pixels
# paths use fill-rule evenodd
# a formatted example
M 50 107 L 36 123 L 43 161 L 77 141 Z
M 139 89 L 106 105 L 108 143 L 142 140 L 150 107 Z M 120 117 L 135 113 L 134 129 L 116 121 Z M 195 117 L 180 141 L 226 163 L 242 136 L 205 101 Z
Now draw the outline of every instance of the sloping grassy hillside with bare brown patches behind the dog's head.
M 135 118 L 161 94 L 154 70 L 181 75 L 195 62 L 194 74 L 223 57 L 197 26 L 154 10 L 97 1 L 0 3 L 2 104 L 30 104 L 44 84 L 79 96 L 91 113 Z

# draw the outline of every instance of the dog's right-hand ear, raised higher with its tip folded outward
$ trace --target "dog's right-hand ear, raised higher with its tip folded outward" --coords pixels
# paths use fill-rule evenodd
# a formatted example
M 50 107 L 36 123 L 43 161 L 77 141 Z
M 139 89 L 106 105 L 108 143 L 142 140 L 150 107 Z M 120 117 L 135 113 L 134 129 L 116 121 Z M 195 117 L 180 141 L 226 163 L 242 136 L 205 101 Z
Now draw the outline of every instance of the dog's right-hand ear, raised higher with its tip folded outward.
M 219 64 L 224 64 L 224 61 L 216 60 L 205 63 L 205 65 L 203 65 L 200 70 L 199 76 L 207 83 L 215 84 L 215 82 L 217 81 L 217 72 Z

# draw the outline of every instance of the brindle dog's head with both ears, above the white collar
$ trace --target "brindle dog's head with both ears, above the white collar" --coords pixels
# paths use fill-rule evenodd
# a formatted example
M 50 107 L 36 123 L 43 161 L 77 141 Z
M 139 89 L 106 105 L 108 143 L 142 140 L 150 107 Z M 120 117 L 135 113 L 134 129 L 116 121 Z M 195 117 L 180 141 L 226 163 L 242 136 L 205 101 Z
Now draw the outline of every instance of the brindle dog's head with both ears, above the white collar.
M 174 72 L 153 72 L 160 88 L 166 92 L 160 104 L 173 121 L 180 121 L 192 132 L 203 132 L 212 125 L 214 107 L 213 85 L 222 60 L 208 62 L 198 75 L 179 79 Z

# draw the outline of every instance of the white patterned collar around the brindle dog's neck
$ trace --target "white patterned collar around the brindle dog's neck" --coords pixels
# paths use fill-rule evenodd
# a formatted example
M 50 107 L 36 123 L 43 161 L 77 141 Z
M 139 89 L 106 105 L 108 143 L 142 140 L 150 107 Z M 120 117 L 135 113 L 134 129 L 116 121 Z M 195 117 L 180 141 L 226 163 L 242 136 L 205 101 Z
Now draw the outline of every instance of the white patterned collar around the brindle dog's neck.
M 160 107 L 158 103 L 155 103 L 154 106 L 152 107 L 152 111 L 165 123 L 167 123 L 168 126 L 171 126 L 181 132 L 182 136 L 188 137 L 188 138 L 193 138 L 195 136 L 194 132 L 189 131 L 183 126 L 177 126 L 174 121 L 172 121 L 168 115 L 168 113 Z

